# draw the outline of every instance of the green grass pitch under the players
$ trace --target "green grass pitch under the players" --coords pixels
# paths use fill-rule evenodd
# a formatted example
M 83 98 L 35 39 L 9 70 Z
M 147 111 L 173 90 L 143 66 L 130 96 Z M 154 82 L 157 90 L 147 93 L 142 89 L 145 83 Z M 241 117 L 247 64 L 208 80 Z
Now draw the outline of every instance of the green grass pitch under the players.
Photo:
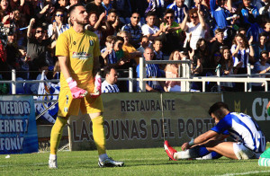
M 270 144 L 267 145 L 269 147 Z M 180 150 L 180 147 L 175 147 Z M 121 168 L 99 168 L 96 151 L 58 152 L 58 169 L 48 168 L 49 152 L 0 155 L 0 175 L 270 175 L 270 167 L 259 167 L 257 160 L 169 161 L 162 147 L 108 150 Z

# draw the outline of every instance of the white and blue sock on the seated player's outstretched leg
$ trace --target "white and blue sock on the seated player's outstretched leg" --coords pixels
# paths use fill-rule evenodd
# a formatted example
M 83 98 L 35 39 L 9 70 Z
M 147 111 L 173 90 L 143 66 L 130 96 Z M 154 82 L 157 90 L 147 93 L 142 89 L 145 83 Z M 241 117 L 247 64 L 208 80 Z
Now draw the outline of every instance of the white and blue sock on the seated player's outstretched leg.
M 199 158 L 206 154 L 210 154 L 210 152 L 206 149 L 206 147 L 204 145 L 197 145 L 191 149 L 175 153 L 174 158 L 176 160 Z

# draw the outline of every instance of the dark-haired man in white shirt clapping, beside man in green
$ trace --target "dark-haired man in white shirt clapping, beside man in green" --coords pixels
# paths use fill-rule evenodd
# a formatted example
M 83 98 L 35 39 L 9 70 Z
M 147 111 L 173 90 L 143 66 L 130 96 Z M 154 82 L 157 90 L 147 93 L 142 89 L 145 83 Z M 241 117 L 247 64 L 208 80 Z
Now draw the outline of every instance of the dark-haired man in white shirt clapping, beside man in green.
M 141 27 L 142 34 L 148 36 L 149 40 L 155 40 L 162 32 L 162 30 L 155 26 L 156 20 L 156 13 L 148 12 L 146 18 L 147 23 Z

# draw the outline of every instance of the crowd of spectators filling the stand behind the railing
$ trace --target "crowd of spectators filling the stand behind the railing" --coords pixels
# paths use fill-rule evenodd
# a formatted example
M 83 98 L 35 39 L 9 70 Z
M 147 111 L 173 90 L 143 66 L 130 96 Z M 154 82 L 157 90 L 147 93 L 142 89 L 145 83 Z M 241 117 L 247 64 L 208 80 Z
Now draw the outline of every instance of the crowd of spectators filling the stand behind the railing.
M 48 79 L 55 78 L 56 42 L 72 26 L 68 8 L 77 3 L 85 5 L 85 29 L 99 37 L 100 65 L 107 70 L 104 76 L 112 69 L 113 84 L 128 76 L 122 70 L 129 67 L 134 77 L 139 75 L 139 57 L 191 59 L 193 76 L 216 75 L 217 66 L 221 75 L 247 74 L 247 64 L 254 74 L 270 70 L 269 0 L 1 0 L 0 79 L 11 80 L 12 69 L 24 80 L 39 79 L 43 68 L 49 70 Z M 178 77 L 178 67 L 147 66 L 147 76 Z M 126 82 L 117 84 L 118 92 L 128 92 Z M 202 91 L 202 84 L 192 86 Z M 221 86 L 243 91 L 243 84 Z M 261 84 L 253 86 L 263 90 Z M 181 84 L 148 82 L 147 91 L 180 92 Z M 8 86 L 0 84 L 0 93 L 8 93 Z

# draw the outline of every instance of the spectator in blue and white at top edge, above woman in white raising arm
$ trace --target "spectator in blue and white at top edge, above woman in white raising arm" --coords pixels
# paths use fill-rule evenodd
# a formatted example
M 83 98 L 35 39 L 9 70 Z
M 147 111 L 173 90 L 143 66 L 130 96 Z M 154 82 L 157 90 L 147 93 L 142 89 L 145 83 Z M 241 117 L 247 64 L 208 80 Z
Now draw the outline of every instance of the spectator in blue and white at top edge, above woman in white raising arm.
M 181 23 L 184 21 L 185 12 L 188 11 L 187 6 L 184 4 L 184 0 L 175 0 L 175 3 L 169 4 L 167 9 L 173 9 L 175 11 L 175 22 Z

